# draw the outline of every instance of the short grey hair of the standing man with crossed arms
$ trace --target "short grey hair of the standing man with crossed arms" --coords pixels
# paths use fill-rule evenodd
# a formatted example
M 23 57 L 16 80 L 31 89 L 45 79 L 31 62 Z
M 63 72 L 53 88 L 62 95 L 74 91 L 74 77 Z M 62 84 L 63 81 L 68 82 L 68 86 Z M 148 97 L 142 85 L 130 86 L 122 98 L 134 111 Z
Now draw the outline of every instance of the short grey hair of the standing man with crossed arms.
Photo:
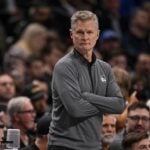
M 78 20 L 81 20 L 81 21 L 93 20 L 95 22 L 97 29 L 99 29 L 98 18 L 96 14 L 94 14 L 91 11 L 80 10 L 80 11 L 75 12 L 73 16 L 71 17 L 71 29 L 73 29 L 74 25 L 76 24 Z

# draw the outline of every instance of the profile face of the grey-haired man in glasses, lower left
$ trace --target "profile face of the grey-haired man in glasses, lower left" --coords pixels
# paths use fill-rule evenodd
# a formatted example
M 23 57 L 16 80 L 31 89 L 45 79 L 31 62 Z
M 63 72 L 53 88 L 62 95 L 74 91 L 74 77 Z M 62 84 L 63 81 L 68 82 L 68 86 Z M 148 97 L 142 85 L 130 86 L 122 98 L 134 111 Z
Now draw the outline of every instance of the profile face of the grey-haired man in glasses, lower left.
M 21 127 L 21 129 L 25 131 L 32 130 L 35 128 L 35 117 L 36 113 L 33 108 L 33 105 L 30 101 L 26 101 L 22 111 L 16 114 L 16 121 L 17 124 L 19 124 L 19 126 Z

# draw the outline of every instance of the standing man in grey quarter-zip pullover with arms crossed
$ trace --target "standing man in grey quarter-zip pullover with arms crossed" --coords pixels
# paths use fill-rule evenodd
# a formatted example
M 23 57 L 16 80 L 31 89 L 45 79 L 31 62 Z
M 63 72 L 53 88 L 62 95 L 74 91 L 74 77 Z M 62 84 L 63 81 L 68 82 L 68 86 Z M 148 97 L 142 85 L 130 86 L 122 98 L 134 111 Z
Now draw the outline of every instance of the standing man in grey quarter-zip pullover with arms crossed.
M 98 20 L 90 11 L 71 18 L 74 50 L 55 65 L 49 150 L 100 150 L 102 115 L 124 108 L 111 68 L 96 59 Z

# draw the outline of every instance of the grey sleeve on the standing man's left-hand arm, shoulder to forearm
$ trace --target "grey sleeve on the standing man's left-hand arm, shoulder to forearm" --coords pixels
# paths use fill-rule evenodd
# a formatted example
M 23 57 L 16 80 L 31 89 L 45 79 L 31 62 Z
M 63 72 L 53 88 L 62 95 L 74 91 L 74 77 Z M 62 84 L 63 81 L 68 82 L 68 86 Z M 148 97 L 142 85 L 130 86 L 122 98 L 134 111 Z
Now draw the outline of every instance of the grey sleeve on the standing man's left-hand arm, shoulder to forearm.
M 62 104 L 72 117 L 98 115 L 99 110 L 82 97 L 77 71 L 72 66 L 59 63 L 55 67 L 52 82 L 54 91 L 57 89 Z

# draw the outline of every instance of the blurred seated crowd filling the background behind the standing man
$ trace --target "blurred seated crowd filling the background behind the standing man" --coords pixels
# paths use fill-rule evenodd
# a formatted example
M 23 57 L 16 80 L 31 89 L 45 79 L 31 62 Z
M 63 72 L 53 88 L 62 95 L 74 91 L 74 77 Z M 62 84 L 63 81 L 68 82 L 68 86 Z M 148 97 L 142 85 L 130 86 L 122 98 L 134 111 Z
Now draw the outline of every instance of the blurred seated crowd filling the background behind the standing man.
M 133 110 L 144 109 L 149 119 L 146 122 L 144 118 L 143 123 L 149 125 L 138 125 L 143 128 L 143 136 L 127 135 L 123 146 L 131 147 L 129 141 L 147 138 L 143 131 L 150 130 L 150 112 L 147 114 L 148 108 L 140 102 L 148 104 L 150 100 L 149 0 L 1 0 L 0 124 L 3 130 L 21 130 L 21 148 L 32 143 L 46 149 L 48 129 L 40 120 L 46 116 L 44 124 L 50 123 L 53 68 L 72 50 L 70 17 L 85 9 L 99 19 L 100 37 L 94 52 L 112 66 L 126 100 L 122 114 L 106 114 L 103 118 L 103 133 L 111 133 L 102 135 L 104 150 L 109 149 L 114 135 L 127 128 L 126 119 Z M 105 130 L 105 122 L 111 125 L 111 131 Z

